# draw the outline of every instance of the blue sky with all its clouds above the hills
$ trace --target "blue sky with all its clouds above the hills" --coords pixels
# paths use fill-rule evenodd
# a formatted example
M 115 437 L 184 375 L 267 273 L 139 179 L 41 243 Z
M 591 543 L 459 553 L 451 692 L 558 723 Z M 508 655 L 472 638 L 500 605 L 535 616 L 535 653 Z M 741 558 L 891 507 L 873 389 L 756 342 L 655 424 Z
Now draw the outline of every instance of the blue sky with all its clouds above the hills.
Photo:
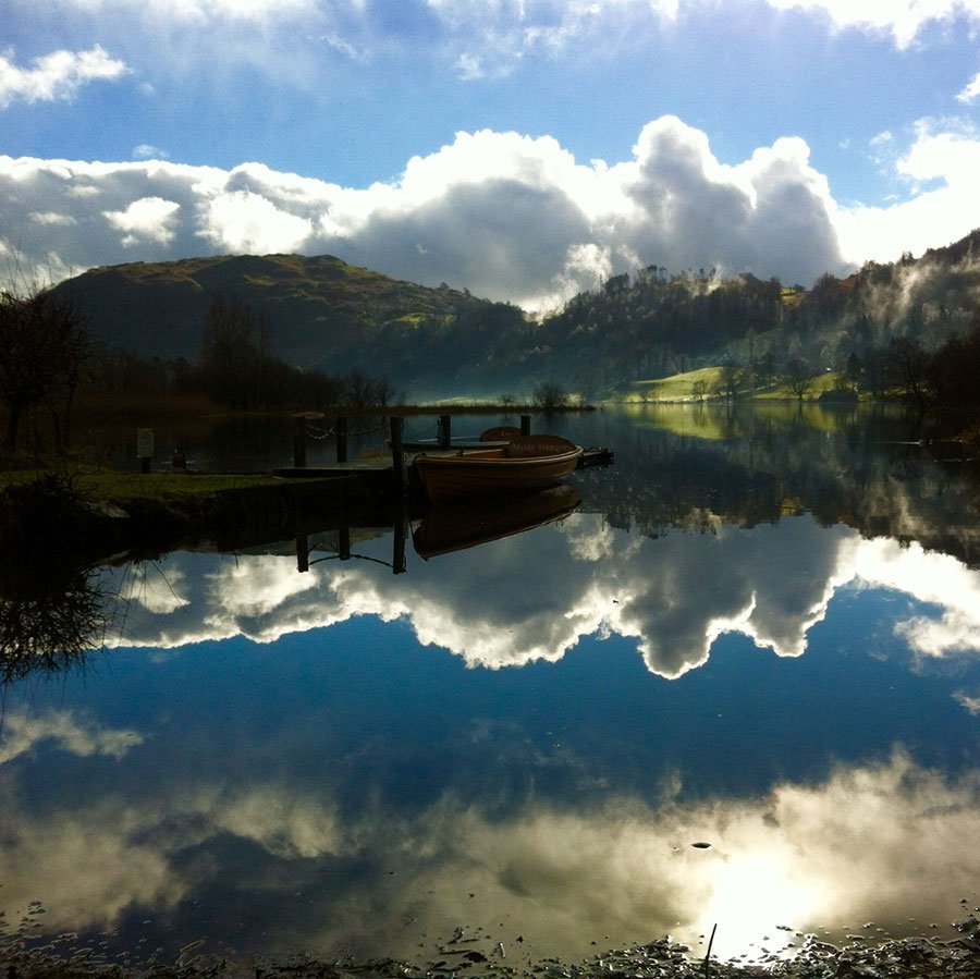
M 547 310 L 980 227 L 980 0 L 0 0 L 0 281 L 335 255 Z

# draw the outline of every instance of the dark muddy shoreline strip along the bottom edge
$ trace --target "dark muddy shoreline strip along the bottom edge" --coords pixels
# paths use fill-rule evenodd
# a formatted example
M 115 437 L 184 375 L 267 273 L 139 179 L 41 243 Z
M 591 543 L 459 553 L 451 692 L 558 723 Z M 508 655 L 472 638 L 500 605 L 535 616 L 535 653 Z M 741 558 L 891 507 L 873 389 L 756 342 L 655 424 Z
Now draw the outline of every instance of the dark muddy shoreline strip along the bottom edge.
M 163 963 L 156 954 L 138 959 L 122 952 L 110 958 L 108 952 L 72 935 L 34 944 L 24 934 L 29 922 L 25 918 L 17 932 L 8 937 L 0 921 L 0 969 L 8 979 L 455 979 L 461 974 L 474 979 L 939 979 L 980 975 L 980 921 L 972 914 L 955 923 L 959 935 L 954 939 L 914 935 L 872 942 L 852 937 L 846 944 L 834 945 L 808 937 L 789 956 L 767 953 L 751 963 L 713 958 L 710 942 L 703 957 L 694 956 L 688 946 L 669 937 L 580 962 L 543 958 L 522 964 L 512 964 L 503 944 L 492 939 L 453 938 L 437 946 L 438 957 L 421 964 L 388 957 L 318 957 L 301 951 L 233 962 L 207 952 L 201 939 L 181 949 L 172 963 Z

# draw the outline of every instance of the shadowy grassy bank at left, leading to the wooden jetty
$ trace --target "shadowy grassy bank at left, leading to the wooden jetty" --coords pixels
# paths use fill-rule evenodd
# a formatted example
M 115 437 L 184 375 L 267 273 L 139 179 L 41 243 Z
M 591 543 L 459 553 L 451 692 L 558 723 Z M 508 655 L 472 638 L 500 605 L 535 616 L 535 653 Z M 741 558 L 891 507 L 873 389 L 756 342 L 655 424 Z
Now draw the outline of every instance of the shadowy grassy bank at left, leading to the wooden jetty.
M 179 548 L 237 550 L 346 524 L 393 519 L 390 494 L 356 476 L 119 473 L 75 465 L 0 473 L 0 551 L 23 562 L 91 566 Z

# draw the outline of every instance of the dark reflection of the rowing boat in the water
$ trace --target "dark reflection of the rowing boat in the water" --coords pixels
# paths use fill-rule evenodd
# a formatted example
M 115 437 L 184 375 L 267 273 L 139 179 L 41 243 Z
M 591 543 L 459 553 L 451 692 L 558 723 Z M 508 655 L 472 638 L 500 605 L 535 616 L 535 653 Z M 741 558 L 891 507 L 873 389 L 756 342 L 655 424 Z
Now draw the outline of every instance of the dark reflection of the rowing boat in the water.
M 412 542 L 428 560 L 560 521 L 578 503 L 578 491 L 568 485 L 520 497 L 458 499 L 429 511 Z

